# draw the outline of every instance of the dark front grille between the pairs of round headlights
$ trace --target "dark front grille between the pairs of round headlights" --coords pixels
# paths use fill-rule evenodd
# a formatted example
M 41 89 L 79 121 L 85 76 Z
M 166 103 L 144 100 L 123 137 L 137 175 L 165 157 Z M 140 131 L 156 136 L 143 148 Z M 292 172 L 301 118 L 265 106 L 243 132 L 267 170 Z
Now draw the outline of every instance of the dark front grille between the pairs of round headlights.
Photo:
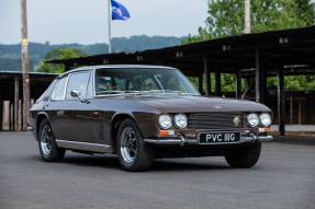
M 220 112 L 220 113 L 190 113 L 188 115 L 189 129 L 225 129 L 244 128 L 244 113 L 241 112 Z M 238 117 L 239 124 L 234 119 Z

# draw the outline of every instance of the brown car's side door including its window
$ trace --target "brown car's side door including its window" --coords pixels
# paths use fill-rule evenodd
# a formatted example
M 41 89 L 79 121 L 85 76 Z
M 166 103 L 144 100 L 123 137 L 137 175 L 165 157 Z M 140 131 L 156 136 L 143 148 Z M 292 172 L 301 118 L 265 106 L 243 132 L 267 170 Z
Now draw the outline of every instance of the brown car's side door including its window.
M 63 140 L 95 142 L 93 136 L 93 104 L 91 72 L 80 71 L 69 74 L 65 100 L 58 105 L 58 117 Z M 80 97 L 71 96 L 79 91 Z

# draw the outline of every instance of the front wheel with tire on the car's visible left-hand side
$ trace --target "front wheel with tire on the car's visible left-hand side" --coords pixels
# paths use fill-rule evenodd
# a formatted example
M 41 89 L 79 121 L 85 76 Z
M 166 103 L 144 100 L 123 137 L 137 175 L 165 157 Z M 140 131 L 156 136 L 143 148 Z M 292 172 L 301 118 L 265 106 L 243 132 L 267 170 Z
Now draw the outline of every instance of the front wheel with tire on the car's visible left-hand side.
M 136 123 L 131 118 L 124 119 L 119 128 L 116 149 L 125 171 L 147 171 L 153 163 L 154 150 L 144 142 Z

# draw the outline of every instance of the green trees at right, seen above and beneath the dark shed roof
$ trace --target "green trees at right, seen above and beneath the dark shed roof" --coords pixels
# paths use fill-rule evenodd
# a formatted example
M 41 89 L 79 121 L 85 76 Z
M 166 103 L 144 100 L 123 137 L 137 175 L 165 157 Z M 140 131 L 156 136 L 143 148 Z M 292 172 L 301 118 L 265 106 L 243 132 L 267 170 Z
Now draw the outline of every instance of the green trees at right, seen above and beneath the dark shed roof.
M 210 15 L 205 21 L 206 27 L 199 27 L 198 35 L 189 34 L 181 40 L 181 44 L 244 34 L 244 0 L 209 0 L 207 13 Z M 311 0 L 250 0 L 251 33 L 312 25 L 315 21 L 314 8 L 315 3 L 312 3 Z M 235 74 L 222 73 L 222 91 L 235 91 Z M 198 80 L 193 78 L 190 80 L 198 86 Z M 213 76 L 211 76 L 211 80 L 212 83 L 215 82 Z M 214 91 L 214 84 L 212 86 L 212 91 Z M 268 78 L 267 89 L 277 90 L 275 78 Z M 313 76 L 285 77 L 285 90 L 312 89 L 315 89 Z

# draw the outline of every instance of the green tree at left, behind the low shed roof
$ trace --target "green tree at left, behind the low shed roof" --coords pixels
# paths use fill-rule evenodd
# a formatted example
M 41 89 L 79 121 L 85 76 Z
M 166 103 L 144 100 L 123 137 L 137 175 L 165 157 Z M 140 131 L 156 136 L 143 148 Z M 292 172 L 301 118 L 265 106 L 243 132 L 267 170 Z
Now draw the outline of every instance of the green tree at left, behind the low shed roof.
M 83 57 L 89 56 L 86 53 L 82 53 L 80 49 L 77 48 L 55 48 L 46 54 L 45 59 L 52 60 L 52 59 L 69 59 L 69 58 L 76 58 L 76 57 Z M 37 72 L 53 72 L 53 73 L 63 73 L 65 72 L 65 66 L 64 65 L 54 65 L 54 63 L 40 63 L 40 68 L 37 69 Z

